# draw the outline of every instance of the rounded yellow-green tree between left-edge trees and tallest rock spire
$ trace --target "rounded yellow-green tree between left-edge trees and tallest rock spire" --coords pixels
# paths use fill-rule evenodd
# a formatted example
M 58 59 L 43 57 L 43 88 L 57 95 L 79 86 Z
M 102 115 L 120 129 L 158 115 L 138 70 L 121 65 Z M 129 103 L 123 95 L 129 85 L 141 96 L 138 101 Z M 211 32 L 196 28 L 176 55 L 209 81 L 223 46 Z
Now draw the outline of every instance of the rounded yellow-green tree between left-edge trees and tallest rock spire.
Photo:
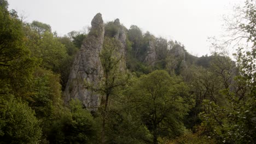
M 34 79 L 30 87 L 29 105 L 38 118 L 48 117 L 53 106 L 61 105 L 60 77 L 50 70 L 38 68 L 34 72 Z

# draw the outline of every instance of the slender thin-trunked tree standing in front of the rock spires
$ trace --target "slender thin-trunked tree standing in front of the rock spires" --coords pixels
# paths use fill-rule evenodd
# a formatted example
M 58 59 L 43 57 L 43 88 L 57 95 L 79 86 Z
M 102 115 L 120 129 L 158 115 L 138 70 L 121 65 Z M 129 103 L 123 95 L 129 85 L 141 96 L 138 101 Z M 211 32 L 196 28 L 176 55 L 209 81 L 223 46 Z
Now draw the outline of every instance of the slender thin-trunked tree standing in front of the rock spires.
M 119 53 L 120 41 L 114 38 L 106 37 L 103 43 L 103 49 L 100 54 L 101 64 L 103 68 L 103 77 L 100 86 L 90 86 L 92 91 L 100 92 L 103 97 L 101 103 L 104 105 L 101 111 L 102 116 L 102 136 L 101 141 L 105 143 L 105 130 L 108 121 L 109 101 L 113 95 L 117 95 L 117 89 L 126 85 L 129 76 L 123 65 L 123 56 Z

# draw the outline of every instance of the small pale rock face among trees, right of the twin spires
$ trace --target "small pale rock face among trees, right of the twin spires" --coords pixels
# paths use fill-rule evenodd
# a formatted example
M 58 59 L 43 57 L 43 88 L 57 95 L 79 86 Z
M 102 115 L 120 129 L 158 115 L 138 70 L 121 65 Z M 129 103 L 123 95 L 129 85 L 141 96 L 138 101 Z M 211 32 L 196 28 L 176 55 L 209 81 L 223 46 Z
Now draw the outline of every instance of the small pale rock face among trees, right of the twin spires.
M 147 55 L 144 62 L 146 62 L 149 65 L 154 65 L 156 61 L 156 57 L 157 56 L 156 56 L 155 44 L 153 41 L 149 41 L 148 51 L 147 51 Z

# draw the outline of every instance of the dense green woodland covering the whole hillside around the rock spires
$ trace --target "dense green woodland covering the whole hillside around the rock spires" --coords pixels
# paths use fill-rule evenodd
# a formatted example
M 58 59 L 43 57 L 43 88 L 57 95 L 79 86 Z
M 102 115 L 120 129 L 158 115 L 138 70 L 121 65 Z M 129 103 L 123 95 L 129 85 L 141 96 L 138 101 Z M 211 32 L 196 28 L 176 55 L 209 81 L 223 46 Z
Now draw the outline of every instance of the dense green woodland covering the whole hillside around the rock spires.
M 242 20 L 229 25 L 242 34 L 232 39 L 248 44 L 235 60 L 223 52 L 190 55 L 138 26 L 125 28 L 127 52 L 120 56 L 117 28 L 105 23 L 102 105 L 90 112 L 77 99 L 63 102 L 88 33 L 60 37 L 43 22 L 22 21 L 0 0 L 0 143 L 255 143 L 255 5 L 247 0 L 235 11 Z M 152 43 L 156 58 L 147 63 Z M 119 70 L 120 57 L 127 70 Z

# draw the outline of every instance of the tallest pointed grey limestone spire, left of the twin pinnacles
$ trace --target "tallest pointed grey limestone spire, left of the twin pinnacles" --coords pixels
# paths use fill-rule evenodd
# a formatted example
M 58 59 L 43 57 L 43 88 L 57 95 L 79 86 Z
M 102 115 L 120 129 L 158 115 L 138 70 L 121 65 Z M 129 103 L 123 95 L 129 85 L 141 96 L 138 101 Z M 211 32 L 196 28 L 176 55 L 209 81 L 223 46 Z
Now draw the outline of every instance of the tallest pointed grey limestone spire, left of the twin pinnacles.
M 103 76 L 100 52 L 104 40 L 104 25 L 100 13 L 91 21 L 91 30 L 73 62 L 65 89 L 65 101 L 79 99 L 89 110 L 96 110 L 100 95 L 85 87 L 85 81 L 98 86 Z

